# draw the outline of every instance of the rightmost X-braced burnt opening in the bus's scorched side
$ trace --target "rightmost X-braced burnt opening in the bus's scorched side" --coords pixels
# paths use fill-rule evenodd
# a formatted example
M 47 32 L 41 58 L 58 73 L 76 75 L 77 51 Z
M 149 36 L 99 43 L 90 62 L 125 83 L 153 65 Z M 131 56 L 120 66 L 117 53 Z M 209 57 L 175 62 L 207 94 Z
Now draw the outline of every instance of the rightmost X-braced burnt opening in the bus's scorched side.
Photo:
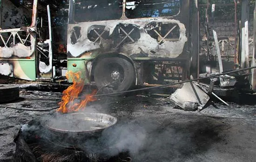
M 178 24 L 151 22 L 145 26 L 145 30 L 159 44 L 163 44 L 165 41 L 178 41 L 180 39 L 180 27 Z

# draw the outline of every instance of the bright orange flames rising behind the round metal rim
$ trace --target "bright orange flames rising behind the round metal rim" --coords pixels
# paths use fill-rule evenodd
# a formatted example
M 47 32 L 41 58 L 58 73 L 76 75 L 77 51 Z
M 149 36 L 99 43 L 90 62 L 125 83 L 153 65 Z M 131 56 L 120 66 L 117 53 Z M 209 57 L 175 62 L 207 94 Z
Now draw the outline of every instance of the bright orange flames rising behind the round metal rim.
M 69 86 L 62 93 L 62 101 L 59 103 L 60 108 L 58 112 L 76 112 L 83 110 L 87 103 L 90 101 L 97 100 L 93 95 L 97 93 L 96 90 L 93 90 L 91 94 L 85 94 L 81 97 L 78 95 L 82 92 L 84 87 L 84 80 L 80 77 L 81 72 L 74 73 L 73 71 L 68 71 L 66 74 L 67 79 L 73 81 L 73 85 Z

